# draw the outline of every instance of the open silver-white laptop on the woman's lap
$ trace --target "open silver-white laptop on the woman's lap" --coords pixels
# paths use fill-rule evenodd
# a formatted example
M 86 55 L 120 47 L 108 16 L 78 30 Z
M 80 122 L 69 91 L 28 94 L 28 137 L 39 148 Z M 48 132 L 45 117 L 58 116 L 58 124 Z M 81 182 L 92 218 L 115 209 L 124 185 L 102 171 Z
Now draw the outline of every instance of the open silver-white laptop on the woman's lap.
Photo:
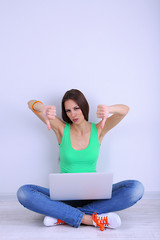
M 51 173 L 52 200 L 109 199 L 112 197 L 113 173 Z

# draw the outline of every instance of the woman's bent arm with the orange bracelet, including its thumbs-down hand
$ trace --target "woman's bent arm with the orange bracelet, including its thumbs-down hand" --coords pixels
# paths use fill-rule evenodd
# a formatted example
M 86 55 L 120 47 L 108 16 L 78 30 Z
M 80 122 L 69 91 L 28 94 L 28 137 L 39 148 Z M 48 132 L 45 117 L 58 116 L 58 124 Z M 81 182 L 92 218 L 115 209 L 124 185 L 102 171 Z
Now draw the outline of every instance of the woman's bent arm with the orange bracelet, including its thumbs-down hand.
M 52 128 L 57 135 L 58 141 L 60 141 L 61 135 L 63 135 L 65 123 L 56 117 L 56 107 L 44 105 L 43 103 L 36 102 L 36 100 L 30 100 L 28 107 L 34 112 L 34 114 L 47 124 L 48 130 Z M 33 106 L 33 108 L 32 108 Z M 60 136 L 59 136 L 60 135 Z

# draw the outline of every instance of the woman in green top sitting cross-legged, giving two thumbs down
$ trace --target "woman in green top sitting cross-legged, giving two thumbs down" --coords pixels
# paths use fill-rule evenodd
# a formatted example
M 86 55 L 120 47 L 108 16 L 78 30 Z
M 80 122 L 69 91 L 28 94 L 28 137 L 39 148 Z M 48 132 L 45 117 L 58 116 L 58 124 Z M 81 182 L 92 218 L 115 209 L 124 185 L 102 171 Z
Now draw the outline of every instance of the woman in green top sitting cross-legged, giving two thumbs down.
M 31 100 L 29 108 L 52 129 L 59 143 L 61 173 L 96 172 L 101 142 L 108 131 L 115 127 L 128 113 L 129 107 L 118 104 L 99 105 L 98 124 L 88 122 L 89 105 L 79 90 L 72 89 L 62 99 L 62 118 L 56 116 L 55 106 L 46 106 Z M 108 117 L 109 114 L 113 114 Z M 143 185 L 136 180 L 113 184 L 112 198 L 99 200 L 54 201 L 49 189 L 24 185 L 18 192 L 19 202 L 26 208 L 46 215 L 45 226 L 69 224 L 78 228 L 80 224 L 117 228 L 120 217 L 114 213 L 134 205 L 143 196 Z

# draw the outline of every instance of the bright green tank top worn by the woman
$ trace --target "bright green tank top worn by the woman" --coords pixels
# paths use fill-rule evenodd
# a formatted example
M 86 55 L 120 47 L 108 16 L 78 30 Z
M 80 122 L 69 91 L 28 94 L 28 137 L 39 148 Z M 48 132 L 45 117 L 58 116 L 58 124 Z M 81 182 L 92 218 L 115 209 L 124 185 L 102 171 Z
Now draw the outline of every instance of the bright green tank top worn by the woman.
M 88 147 L 75 150 L 71 145 L 70 124 L 66 123 L 61 144 L 60 171 L 61 173 L 96 172 L 100 144 L 95 123 L 91 123 L 91 133 Z

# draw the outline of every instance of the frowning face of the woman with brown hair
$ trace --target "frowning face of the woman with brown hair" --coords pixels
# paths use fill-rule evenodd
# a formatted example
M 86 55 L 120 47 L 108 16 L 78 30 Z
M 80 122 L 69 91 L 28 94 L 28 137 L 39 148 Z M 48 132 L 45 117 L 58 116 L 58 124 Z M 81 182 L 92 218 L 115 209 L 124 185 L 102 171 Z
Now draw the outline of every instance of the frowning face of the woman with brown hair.
M 80 107 L 77 105 L 77 103 L 71 99 L 65 101 L 64 108 L 66 111 L 67 116 L 69 119 L 75 123 L 79 124 L 84 120 L 84 115 L 80 109 Z

